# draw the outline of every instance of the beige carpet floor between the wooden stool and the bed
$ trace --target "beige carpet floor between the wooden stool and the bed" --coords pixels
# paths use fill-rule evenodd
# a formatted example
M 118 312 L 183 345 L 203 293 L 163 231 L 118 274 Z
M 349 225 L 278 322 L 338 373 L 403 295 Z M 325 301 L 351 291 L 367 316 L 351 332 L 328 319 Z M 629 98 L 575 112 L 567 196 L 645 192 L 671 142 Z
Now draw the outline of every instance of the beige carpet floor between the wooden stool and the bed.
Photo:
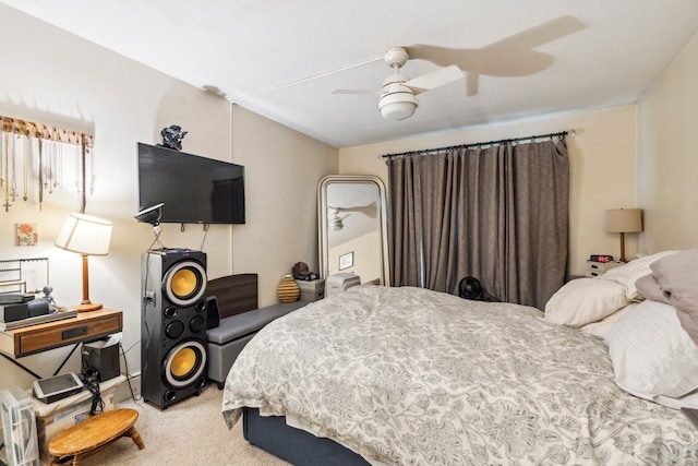
M 222 391 L 208 385 L 167 409 L 145 402 L 122 402 L 118 408 L 139 410 L 135 423 L 145 450 L 129 438 L 119 439 L 81 464 L 101 465 L 244 465 L 287 466 L 276 456 L 249 444 L 242 437 L 242 421 L 228 430 L 220 414 Z

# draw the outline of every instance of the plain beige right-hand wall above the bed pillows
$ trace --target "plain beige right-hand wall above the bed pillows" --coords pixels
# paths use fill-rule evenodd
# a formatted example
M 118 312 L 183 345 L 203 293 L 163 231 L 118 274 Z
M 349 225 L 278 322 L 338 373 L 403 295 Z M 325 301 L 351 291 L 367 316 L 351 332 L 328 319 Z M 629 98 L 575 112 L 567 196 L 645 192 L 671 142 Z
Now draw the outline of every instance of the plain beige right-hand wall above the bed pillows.
M 638 141 L 643 249 L 698 247 L 698 36 L 639 105 Z

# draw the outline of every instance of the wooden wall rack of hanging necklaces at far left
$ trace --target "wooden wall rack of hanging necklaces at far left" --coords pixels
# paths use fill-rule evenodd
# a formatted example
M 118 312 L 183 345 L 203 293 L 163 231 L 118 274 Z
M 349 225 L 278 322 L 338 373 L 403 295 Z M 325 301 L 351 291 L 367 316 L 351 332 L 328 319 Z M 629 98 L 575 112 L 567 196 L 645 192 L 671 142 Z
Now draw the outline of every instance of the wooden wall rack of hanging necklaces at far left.
M 84 213 L 86 191 L 94 194 L 95 189 L 93 135 L 3 116 L 0 123 L 0 199 L 4 212 L 20 199 L 36 201 L 40 211 L 47 195 L 68 187 L 65 160 L 74 158 L 75 187 Z

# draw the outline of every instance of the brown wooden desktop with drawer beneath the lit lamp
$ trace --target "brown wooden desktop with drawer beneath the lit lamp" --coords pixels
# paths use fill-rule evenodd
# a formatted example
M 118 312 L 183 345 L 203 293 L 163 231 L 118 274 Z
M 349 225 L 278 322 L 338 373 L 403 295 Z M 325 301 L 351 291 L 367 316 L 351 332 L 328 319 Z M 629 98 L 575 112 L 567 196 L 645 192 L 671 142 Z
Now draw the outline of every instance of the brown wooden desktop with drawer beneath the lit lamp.
M 123 315 L 113 309 L 80 312 L 60 321 L 0 332 L 0 351 L 19 358 L 121 332 Z

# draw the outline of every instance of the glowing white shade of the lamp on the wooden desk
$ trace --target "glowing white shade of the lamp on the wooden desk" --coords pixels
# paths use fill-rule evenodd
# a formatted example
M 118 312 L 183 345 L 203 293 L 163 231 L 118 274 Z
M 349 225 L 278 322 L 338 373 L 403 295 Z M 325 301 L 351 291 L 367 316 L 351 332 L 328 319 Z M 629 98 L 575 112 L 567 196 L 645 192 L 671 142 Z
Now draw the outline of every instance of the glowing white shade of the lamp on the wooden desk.
M 85 214 L 70 214 L 53 242 L 58 248 L 85 255 L 107 255 L 111 222 Z

